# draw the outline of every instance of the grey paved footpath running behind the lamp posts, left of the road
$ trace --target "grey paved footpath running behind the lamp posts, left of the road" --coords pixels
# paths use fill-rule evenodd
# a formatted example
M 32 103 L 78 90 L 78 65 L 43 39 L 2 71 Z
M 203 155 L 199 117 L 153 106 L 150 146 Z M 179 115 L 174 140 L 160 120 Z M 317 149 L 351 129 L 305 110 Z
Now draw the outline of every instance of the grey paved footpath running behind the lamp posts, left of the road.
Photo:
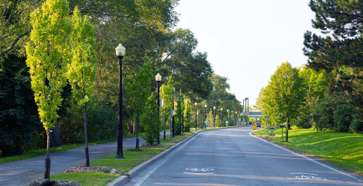
M 170 132 L 166 131 L 169 135 Z M 164 132 L 160 139 L 163 139 Z M 136 144 L 136 137 L 123 139 L 123 149 L 133 148 Z M 140 145 L 145 141 L 140 138 Z M 108 154 L 116 153 L 117 141 L 98 145 L 89 145 L 90 161 L 96 160 Z M 127 157 L 126 157 L 127 158 Z M 44 159 L 45 155 L 37 156 L 27 160 L 8 162 L 0 164 L 0 185 L 20 186 L 27 185 L 32 181 L 44 178 Z M 50 175 L 62 173 L 64 170 L 85 164 L 84 146 L 71 150 L 50 154 L 51 167 Z M 92 164 L 91 164 L 92 165 Z

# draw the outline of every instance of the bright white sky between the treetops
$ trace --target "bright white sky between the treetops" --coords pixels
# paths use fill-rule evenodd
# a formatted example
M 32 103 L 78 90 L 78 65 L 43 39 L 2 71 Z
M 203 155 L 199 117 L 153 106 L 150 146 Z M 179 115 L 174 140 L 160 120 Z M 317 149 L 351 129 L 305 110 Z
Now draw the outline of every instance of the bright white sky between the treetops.
M 306 63 L 303 34 L 313 31 L 309 0 L 180 0 L 177 28 L 189 28 L 216 74 L 238 100 L 256 103 L 282 62 Z

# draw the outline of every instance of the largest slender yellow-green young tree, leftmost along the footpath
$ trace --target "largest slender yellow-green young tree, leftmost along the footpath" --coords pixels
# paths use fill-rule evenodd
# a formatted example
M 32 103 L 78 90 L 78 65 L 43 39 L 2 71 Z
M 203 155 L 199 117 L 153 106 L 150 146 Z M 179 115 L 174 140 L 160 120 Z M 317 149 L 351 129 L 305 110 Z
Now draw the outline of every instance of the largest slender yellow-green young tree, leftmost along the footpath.
M 68 10 L 66 0 L 47 0 L 41 9 L 30 14 L 33 29 L 26 45 L 26 65 L 30 67 L 34 99 L 48 138 L 46 159 L 49 159 L 50 132 L 59 117 L 57 110 L 62 103 L 61 91 L 67 83 L 67 65 L 71 58 Z M 44 177 L 49 178 L 46 173 Z

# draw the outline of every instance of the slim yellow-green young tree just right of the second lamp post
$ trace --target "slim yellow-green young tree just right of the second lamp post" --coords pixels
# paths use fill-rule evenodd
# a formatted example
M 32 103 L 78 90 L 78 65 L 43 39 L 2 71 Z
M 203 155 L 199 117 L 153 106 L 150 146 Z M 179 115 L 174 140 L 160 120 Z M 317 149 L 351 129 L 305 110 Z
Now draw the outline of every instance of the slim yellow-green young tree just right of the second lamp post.
M 170 76 L 168 84 L 163 84 L 160 87 L 160 99 L 164 100 L 164 106 L 160 107 L 161 115 L 164 120 L 164 130 L 166 130 L 166 121 L 169 119 L 171 114 L 171 108 L 173 107 L 174 96 L 173 96 L 173 78 Z M 164 136 L 165 139 L 165 136 Z

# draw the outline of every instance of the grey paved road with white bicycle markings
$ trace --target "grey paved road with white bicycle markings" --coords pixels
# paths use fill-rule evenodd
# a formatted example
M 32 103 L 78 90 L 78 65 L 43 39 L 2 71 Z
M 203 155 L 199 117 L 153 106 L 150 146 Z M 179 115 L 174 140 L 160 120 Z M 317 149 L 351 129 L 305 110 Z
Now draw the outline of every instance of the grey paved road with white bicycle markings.
M 126 186 L 349 186 L 363 178 L 250 135 L 251 127 L 199 133 Z

